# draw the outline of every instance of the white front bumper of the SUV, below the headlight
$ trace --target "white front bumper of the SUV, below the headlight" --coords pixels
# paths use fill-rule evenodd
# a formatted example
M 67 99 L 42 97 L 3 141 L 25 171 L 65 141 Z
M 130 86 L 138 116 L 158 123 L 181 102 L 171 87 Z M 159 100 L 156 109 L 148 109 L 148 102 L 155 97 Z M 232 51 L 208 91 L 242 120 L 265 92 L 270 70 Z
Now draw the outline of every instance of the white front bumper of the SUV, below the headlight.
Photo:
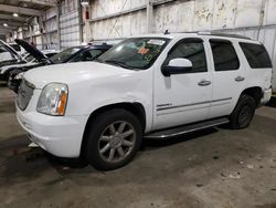
M 28 108 L 17 106 L 17 118 L 33 143 L 59 157 L 79 156 L 86 116 L 50 116 Z

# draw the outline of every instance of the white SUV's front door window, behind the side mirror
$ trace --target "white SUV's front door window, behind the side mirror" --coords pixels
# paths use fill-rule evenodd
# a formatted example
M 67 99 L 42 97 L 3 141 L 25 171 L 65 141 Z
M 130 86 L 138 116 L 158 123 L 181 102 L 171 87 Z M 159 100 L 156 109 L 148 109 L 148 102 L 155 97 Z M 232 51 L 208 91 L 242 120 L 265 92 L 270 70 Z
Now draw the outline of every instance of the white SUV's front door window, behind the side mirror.
M 189 73 L 208 71 L 204 45 L 201 39 L 184 39 L 177 43 L 169 52 L 164 64 L 178 58 L 188 59 L 192 62 L 192 70 Z

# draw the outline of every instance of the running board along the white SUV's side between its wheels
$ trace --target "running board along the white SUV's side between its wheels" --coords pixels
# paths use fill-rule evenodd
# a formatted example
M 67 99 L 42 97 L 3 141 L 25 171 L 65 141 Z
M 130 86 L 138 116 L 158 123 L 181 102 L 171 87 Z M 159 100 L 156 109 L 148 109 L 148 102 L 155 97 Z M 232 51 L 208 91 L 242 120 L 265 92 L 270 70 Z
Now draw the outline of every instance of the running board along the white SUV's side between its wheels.
M 184 125 L 184 126 L 178 126 L 174 128 L 167 128 L 160 132 L 153 132 L 150 134 L 146 134 L 145 138 L 151 138 L 151 139 L 167 139 L 173 136 L 179 136 L 183 134 L 188 134 L 191 132 L 200 131 L 200 129 L 205 129 L 214 126 L 219 126 L 222 124 L 229 123 L 229 118 L 222 117 L 222 118 L 216 118 L 216 119 L 210 119 L 205 122 L 200 122 L 195 124 L 190 124 L 190 125 Z

